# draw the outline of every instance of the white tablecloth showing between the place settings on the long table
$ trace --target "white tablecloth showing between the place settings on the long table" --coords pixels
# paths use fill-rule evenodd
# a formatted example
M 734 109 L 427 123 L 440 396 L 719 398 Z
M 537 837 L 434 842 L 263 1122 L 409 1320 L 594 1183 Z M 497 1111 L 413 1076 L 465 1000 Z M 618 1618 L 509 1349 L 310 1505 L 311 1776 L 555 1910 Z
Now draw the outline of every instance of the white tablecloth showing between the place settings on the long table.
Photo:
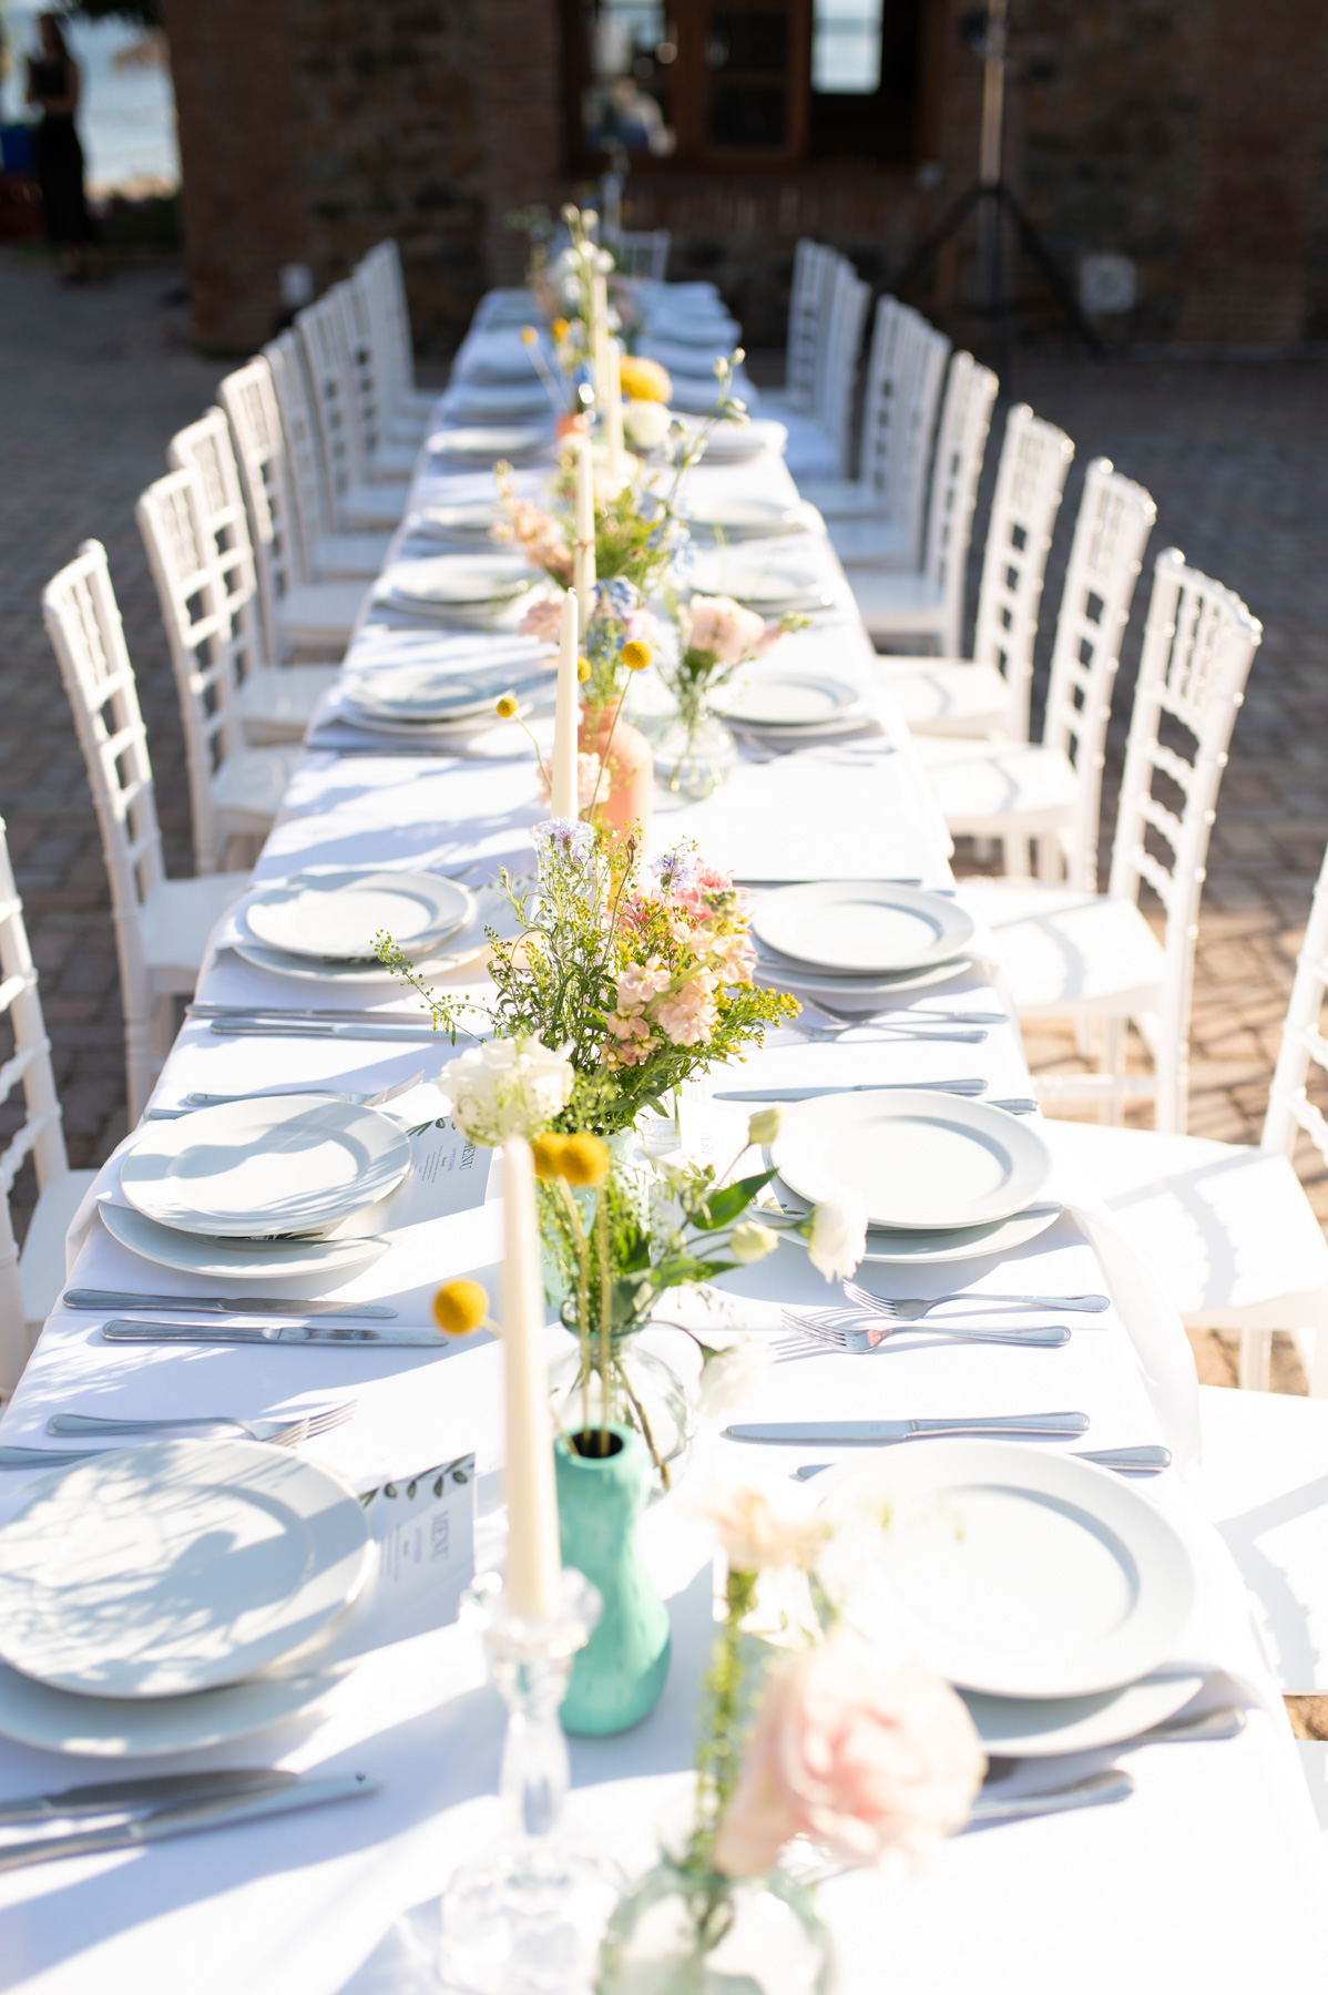
M 475 347 L 475 341 L 473 341 Z M 546 473 L 522 473 L 534 487 Z M 700 467 L 698 487 L 796 497 L 778 455 Z M 427 455 L 413 505 L 489 493 L 487 473 L 453 471 Z M 794 543 L 790 543 L 792 547 Z M 407 525 L 393 559 L 437 553 Z M 853 610 L 833 551 L 808 515 L 800 559 L 816 565 L 833 597 L 812 630 L 788 640 L 808 662 L 871 680 L 871 646 Z M 524 640 L 497 630 L 447 632 L 419 624 L 371 597 L 351 644 L 357 670 L 401 658 L 475 656 Z M 335 702 L 333 702 L 335 706 Z M 343 736 L 337 734 L 343 730 Z M 481 738 L 475 752 L 373 750 L 345 734 L 335 712 L 315 726 L 313 746 L 255 870 L 273 882 L 307 866 L 433 866 L 483 878 L 497 864 L 530 862 L 530 826 L 544 814 L 524 738 Z M 917 878 L 949 884 L 949 840 L 913 760 L 907 730 L 877 688 L 877 730 L 792 758 L 748 754 L 716 798 L 656 818 L 656 844 L 694 836 L 708 858 L 740 880 Z M 307 1003 L 291 986 L 239 962 L 227 926 L 213 938 L 197 998 L 211 1005 Z M 467 982 L 469 980 L 469 982 Z M 481 986 L 455 976 L 459 992 Z M 349 999 L 363 1003 L 363 994 Z M 379 1001 L 379 999 L 375 999 Z M 1001 972 L 989 952 L 953 984 L 919 994 L 925 1005 L 1003 1005 Z M 399 1009 L 397 992 L 383 1007 Z M 451 1057 L 443 1039 L 419 1043 L 225 1037 L 191 1015 L 162 1073 L 154 1101 L 173 1105 L 189 1089 L 213 1093 L 299 1081 L 377 1089 L 423 1069 L 431 1079 Z M 927 1043 L 871 1025 L 841 1039 L 810 1039 L 796 1025 L 732 1073 L 688 1093 L 688 1133 L 702 1155 L 726 1157 L 746 1109 L 714 1097 L 740 1085 L 837 1085 L 981 1075 L 995 1097 L 1029 1091 L 1015 1023 L 985 1043 Z M 437 1099 L 437 1097 L 435 1097 Z M 455 1161 L 455 1159 L 453 1159 Z M 435 1157 L 437 1163 L 437 1157 Z M 427 1323 L 441 1279 L 475 1275 L 497 1285 L 497 1173 L 487 1153 L 457 1171 L 431 1169 L 407 1187 L 383 1229 L 393 1245 L 377 1265 L 335 1293 L 343 1301 L 391 1301 L 403 1323 Z M 114 1181 L 114 1159 L 104 1185 Z M 1248 1706 L 1242 1736 L 1222 1744 L 1117 1748 L 1073 1762 L 1043 1762 L 1021 1774 L 1031 1786 L 1049 1772 L 1073 1778 L 1121 1762 L 1137 1782 L 1115 1807 L 1051 1815 L 951 1839 L 917 1875 L 857 1871 L 824 1887 L 851 1995 L 907 1989 L 959 1995 L 973 1987 L 1051 1995 L 1135 1989 L 1268 1987 L 1278 1995 L 1322 1991 L 1324 1875 L 1310 1803 L 1292 1738 L 1256 1650 L 1238 1576 L 1220 1540 L 1200 1520 L 1182 1468 L 1194 1452 L 1192 1371 L 1180 1325 L 1157 1309 L 1147 1275 L 1121 1259 L 1091 1191 L 1055 1187 L 1073 1213 L 1003 1259 L 909 1269 L 907 1287 L 1069 1295 L 1111 1287 L 1121 1311 L 1073 1319 L 1057 1351 L 903 1339 L 879 1363 L 833 1355 L 778 1363 L 754 1389 L 742 1418 L 831 1414 L 955 1414 L 1083 1408 L 1091 1446 L 1166 1440 L 1176 1468 L 1147 1488 L 1184 1532 L 1200 1574 L 1198 1606 L 1176 1668 L 1224 1672 L 1214 1702 Z M 1091 1245 L 1089 1235 L 1097 1241 Z M 166 1287 L 205 1293 L 187 1275 L 156 1281 L 90 1217 L 72 1275 L 84 1287 Z M 955 1283 L 953 1277 L 959 1277 Z M 291 1295 L 313 1293 L 287 1283 Z M 828 1291 L 806 1257 L 784 1247 L 768 1263 L 730 1277 L 716 1321 L 776 1331 L 780 1305 L 824 1303 Z M 357 1396 L 355 1420 L 311 1440 L 307 1452 L 343 1470 L 359 1488 L 385 1476 L 477 1454 L 481 1542 L 495 1542 L 500 1486 L 497 1410 L 498 1347 L 477 1337 L 447 1351 L 124 1347 L 98 1333 L 100 1319 L 56 1309 L 28 1365 L 0 1434 L 42 1444 L 52 1410 L 78 1406 L 118 1416 L 235 1412 L 267 1414 L 329 1396 Z M 550 1347 L 562 1337 L 550 1329 Z M 680 1492 L 648 1514 L 646 1542 L 674 1618 L 674 1664 L 654 1716 L 616 1740 L 572 1742 L 570 1821 L 628 1867 L 652 1861 L 652 1821 L 686 1782 L 694 1746 L 694 1696 L 710 1638 L 710 1552 L 688 1516 L 688 1490 L 718 1466 L 724 1474 L 784 1482 L 810 1454 L 833 1450 L 742 1448 L 706 1434 Z M 0 1518 L 22 1500 L 30 1476 L 6 1474 Z M 154 1849 L 48 1863 L 0 1875 L 0 1985 L 42 1995 L 403 1995 L 429 1979 L 429 1901 L 449 1869 L 495 1831 L 502 1710 L 485 1684 L 475 1634 L 455 1622 L 371 1652 L 301 1724 L 215 1750 L 207 1764 L 273 1764 L 301 1772 L 369 1772 L 381 1794 L 355 1807 L 323 1809 L 263 1825 L 195 1835 Z M 197 1758 L 197 1756 L 195 1756 Z M 140 1762 L 142 1764 L 142 1762 Z M 154 1762 L 173 1770 L 193 1762 Z M 0 1742 L 0 1799 L 104 1778 L 106 1762 L 42 1754 Z

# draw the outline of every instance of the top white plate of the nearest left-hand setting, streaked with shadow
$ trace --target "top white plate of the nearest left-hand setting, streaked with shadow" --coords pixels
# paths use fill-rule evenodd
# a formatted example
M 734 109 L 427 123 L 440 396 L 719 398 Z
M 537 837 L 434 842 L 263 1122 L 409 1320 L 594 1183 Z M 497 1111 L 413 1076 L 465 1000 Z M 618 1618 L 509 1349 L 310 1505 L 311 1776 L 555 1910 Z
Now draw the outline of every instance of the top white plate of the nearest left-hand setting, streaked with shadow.
M 0 1528 L 0 1658 L 90 1698 L 233 1684 L 327 1628 L 371 1564 L 355 1492 L 289 1448 L 108 1448 Z

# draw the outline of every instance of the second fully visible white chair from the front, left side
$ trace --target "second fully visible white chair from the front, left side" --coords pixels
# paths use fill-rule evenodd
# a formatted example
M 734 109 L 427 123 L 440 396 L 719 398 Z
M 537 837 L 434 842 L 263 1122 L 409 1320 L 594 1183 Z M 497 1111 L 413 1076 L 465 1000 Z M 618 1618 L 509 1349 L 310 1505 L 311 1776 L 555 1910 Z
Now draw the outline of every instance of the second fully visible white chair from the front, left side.
M 219 571 L 195 471 L 171 471 L 134 509 L 158 587 L 175 672 L 189 772 L 195 872 L 211 874 L 233 838 L 271 828 L 299 746 L 245 748 L 237 704 L 257 662 L 257 612 L 243 563 Z M 229 581 L 237 579 L 231 602 Z

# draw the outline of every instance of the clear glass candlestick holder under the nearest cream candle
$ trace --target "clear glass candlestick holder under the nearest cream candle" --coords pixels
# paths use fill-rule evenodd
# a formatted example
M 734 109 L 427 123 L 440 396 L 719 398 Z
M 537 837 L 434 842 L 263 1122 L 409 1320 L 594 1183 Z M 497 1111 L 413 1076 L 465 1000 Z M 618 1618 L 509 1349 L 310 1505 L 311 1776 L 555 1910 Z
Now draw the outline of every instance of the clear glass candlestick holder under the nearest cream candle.
M 568 1841 L 568 1784 L 558 1706 L 572 1656 L 600 1618 L 600 1596 L 564 1568 L 546 1620 L 512 1614 L 497 1572 L 467 1590 L 463 1620 L 479 1628 L 506 1704 L 498 1794 L 506 1827 L 463 1863 L 443 1893 L 441 1971 L 465 1995 L 568 1995 L 590 1985 L 600 1935 L 624 1889 L 616 1863 Z

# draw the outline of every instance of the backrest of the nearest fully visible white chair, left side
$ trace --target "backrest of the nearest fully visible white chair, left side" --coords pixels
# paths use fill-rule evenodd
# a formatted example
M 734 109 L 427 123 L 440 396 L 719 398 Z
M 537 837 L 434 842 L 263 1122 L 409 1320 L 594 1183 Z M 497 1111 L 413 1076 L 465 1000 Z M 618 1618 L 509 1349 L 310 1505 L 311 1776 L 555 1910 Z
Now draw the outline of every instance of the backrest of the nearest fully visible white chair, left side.
M 166 880 L 166 866 L 148 730 L 100 541 L 84 541 L 78 557 L 46 585 L 42 616 L 74 710 L 74 732 L 102 834 L 134 1103 L 146 1097 L 158 1065 L 148 1039 L 152 992 L 142 912 L 146 898 Z

